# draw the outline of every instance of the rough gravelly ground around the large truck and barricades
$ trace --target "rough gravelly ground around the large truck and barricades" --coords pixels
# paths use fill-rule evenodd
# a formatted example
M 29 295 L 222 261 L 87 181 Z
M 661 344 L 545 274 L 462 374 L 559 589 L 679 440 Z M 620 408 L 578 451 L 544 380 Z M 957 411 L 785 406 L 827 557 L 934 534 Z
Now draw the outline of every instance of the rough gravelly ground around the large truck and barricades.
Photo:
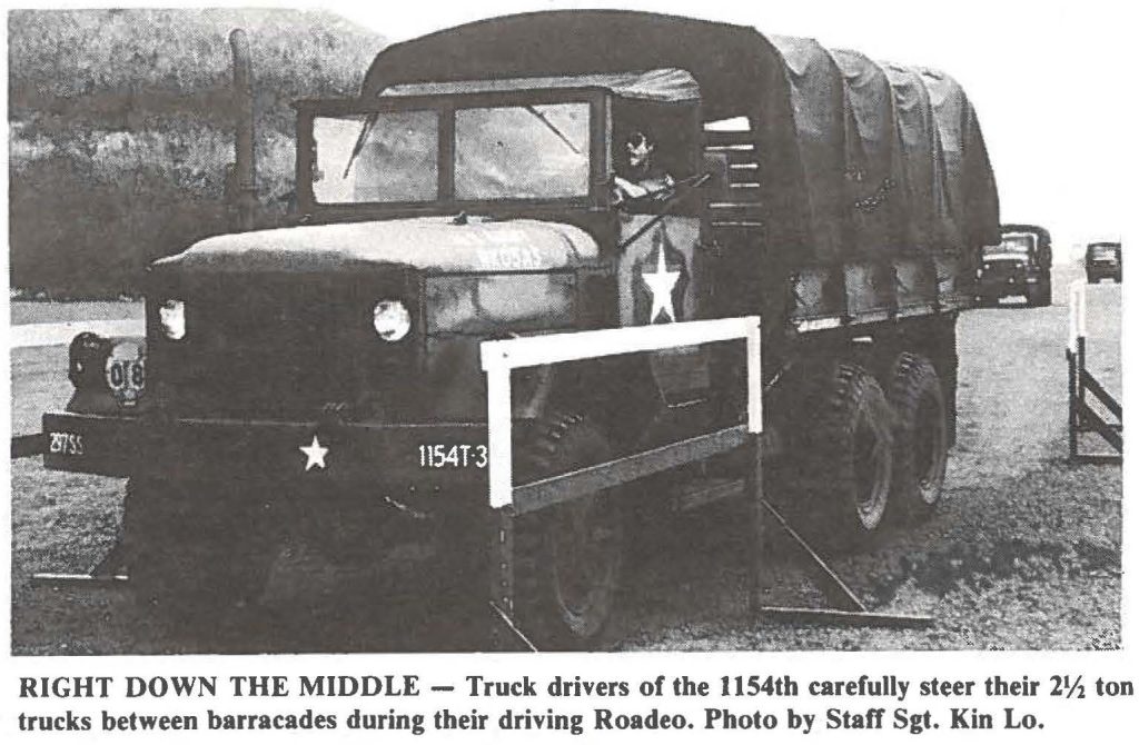
M 1056 280 L 1057 295 L 1064 286 Z M 1063 297 L 1057 297 L 1063 302 Z M 1089 367 L 1121 390 L 1120 288 L 1089 288 Z M 116 311 L 117 312 L 117 311 Z M 35 320 L 41 320 L 35 318 Z M 18 322 L 18 321 L 17 321 Z M 1067 309 L 1010 304 L 959 322 L 958 442 L 944 502 L 834 568 L 876 609 L 923 613 L 917 630 L 767 624 L 747 613 L 739 509 L 706 510 L 674 550 L 636 566 L 612 649 L 1105 649 L 1120 637 L 1118 466 L 1066 462 Z M 13 429 L 66 401 L 66 350 L 14 350 Z M 1095 448 L 1092 440 L 1087 442 Z M 159 623 L 128 590 L 33 587 L 33 572 L 81 572 L 114 542 L 123 482 L 13 464 L 13 652 L 153 654 L 468 648 L 470 627 L 425 599 L 415 555 L 346 572 L 306 556 L 278 562 L 262 604 L 224 624 Z M 773 560 L 779 599 L 818 604 L 800 571 Z M 440 605 L 442 604 L 442 606 Z

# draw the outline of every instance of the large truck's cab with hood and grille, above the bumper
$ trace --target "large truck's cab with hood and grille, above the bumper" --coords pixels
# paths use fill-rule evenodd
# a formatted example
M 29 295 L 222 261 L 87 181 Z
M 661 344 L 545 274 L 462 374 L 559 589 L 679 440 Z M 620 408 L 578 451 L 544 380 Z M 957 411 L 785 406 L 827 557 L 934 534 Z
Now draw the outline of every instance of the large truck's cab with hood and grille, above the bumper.
M 297 112 L 298 224 L 151 268 L 154 406 L 475 421 L 482 339 L 707 313 L 699 98 L 679 71 L 400 85 Z M 658 132 L 672 186 L 623 198 L 633 129 Z M 215 352 L 221 390 L 199 374 Z

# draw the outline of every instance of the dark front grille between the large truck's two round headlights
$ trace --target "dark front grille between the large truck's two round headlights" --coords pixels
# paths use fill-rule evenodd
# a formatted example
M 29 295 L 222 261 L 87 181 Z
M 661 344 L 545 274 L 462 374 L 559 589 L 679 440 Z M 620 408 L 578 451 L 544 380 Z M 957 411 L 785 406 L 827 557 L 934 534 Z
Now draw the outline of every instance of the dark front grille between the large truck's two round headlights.
M 376 300 L 410 305 L 407 284 L 398 284 L 289 277 L 188 290 L 186 338 L 154 345 L 153 379 L 181 416 L 309 419 L 329 403 L 376 409 L 392 379 L 416 367 L 412 339 L 388 344 L 371 329 Z

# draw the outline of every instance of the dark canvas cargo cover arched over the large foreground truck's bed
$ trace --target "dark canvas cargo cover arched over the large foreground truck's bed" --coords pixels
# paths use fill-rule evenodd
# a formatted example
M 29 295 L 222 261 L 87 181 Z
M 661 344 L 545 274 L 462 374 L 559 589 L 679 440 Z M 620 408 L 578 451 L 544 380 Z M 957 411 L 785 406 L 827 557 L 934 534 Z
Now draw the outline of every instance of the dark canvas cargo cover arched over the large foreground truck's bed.
M 393 44 L 361 96 L 655 69 L 691 74 L 706 122 L 749 118 L 765 174 L 767 255 L 781 268 L 937 252 L 972 262 L 999 239 L 988 154 L 960 88 L 813 40 L 638 11 L 531 13 Z

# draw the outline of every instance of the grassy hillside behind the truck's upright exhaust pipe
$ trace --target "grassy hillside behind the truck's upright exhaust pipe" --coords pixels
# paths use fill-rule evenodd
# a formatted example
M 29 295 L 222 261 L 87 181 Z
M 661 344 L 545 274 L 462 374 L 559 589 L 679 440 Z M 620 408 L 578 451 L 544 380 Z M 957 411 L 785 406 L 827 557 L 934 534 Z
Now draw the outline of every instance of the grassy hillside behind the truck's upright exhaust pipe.
M 261 226 L 293 193 L 296 98 L 354 95 L 382 36 L 297 10 L 8 16 L 10 285 L 114 297 L 150 260 L 227 230 L 229 31 L 249 33 Z

